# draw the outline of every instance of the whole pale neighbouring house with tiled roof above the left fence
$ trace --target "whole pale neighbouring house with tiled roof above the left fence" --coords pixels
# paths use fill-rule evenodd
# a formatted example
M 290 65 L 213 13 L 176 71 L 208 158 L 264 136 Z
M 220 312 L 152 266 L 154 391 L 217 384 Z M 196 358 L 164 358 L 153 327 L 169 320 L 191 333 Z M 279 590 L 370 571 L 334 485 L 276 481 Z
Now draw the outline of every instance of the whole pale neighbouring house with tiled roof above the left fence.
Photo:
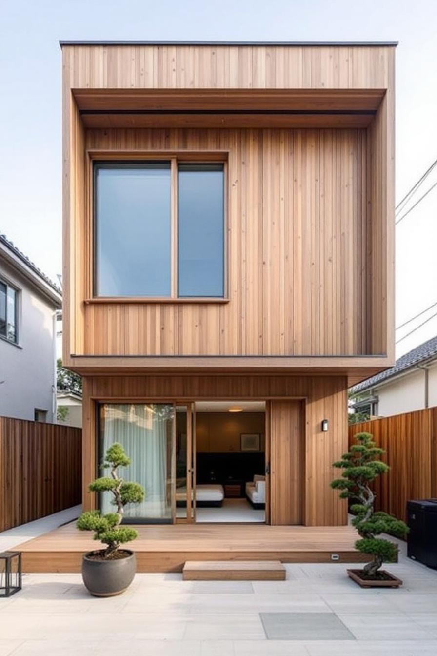
M 0 415 L 56 421 L 60 289 L 0 235 Z

